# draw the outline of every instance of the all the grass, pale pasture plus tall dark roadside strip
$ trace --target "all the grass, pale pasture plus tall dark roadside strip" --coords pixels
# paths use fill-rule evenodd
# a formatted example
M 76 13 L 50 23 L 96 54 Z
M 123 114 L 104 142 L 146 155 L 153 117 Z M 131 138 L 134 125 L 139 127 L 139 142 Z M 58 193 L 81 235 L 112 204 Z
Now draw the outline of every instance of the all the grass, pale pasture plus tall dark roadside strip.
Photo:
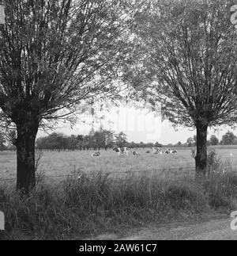
M 6 232 L 0 232 L 0 239 L 85 239 L 236 209 L 236 183 L 221 170 L 228 166 L 224 161 L 236 166 L 237 148 L 217 148 L 222 157 L 220 173 L 210 174 L 203 182 L 190 177 L 194 174 L 190 149 L 180 149 L 177 155 L 145 151 L 140 150 L 138 156 L 102 151 L 99 158 L 92 158 L 92 151 L 44 152 L 40 170 L 45 176 L 68 175 L 74 170 L 96 174 L 64 177 L 62 182 L 48 178 L 49 182 L 38 183 L 26 197 L 8 181 L 0 182 L 0 210 L 6 216 Z M 15 153 L 1 152 L 0 164 L 2 179 L 15 178 Z M 104 172 L 111 176 L 127 173 L 116 179 Z

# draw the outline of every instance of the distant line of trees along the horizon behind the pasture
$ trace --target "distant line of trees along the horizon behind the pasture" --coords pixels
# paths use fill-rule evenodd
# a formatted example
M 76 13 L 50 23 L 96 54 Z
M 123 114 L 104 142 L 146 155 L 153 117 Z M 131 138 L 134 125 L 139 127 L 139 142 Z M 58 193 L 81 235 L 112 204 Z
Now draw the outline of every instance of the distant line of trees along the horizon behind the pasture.
M 135 143 L 128 142 L 124 132 L 116 134 L 111 130 L 100 128 L 99 131 L 92 129 L 88 135 L 71 135 L 66 136 L 63 133 L 54 132 L 49 136 L 43 136 L 36 140 L 36 148 L 45 151 L 85 151 L 85 150 L 101 150 L 112 147 L 130 147 L 130 148 L 152 148 L 152 147 L 196 147 L 197 136 L 190 137 L 186 143 L 180 141 L 176 144 L 169 143 L 163 145 L 161 143 Z M 212 135 L 207 141 L 207 146 L 216 145 L 237 145 L 237 136 L 233 132 L 226 132 L 222 139 L 219 140 L 215 135 Z M 6 139 L 0 134 L 0 151 L 11 150 L 15 151 L 16 147 L 13 144 L 6 144 Z

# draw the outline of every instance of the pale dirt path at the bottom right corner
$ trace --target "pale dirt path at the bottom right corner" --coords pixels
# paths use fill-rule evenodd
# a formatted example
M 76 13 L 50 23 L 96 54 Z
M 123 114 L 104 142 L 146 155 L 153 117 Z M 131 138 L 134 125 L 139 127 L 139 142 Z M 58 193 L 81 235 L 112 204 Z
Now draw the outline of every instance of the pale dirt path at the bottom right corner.
M 150 225 L 135 229 L 127 235 L 100 235 L 94 239 L 122 240 L 237 240 L 237 231 L 231 230 L 231 219 L 199 220 L 193 223 Z

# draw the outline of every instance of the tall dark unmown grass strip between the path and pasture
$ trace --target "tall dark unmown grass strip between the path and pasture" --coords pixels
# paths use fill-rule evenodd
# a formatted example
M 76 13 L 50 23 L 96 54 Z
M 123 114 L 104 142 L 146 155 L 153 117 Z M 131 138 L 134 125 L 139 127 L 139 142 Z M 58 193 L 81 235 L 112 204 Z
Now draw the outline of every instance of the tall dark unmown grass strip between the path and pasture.
M 223 168 L 221 164 L 218 167 Z M 213 170 L 202 184 L 192 178 L 160 179 L 153 175 L 75 172 L 60 184 L 39 182 L 22 198 L 11 187 L 0 189 L 0 210 L 6 216 L 1 239 L 81 239 L 119 232 L 177 214 L 210 208 L 237 208 L 237 187 L 227 173 Z

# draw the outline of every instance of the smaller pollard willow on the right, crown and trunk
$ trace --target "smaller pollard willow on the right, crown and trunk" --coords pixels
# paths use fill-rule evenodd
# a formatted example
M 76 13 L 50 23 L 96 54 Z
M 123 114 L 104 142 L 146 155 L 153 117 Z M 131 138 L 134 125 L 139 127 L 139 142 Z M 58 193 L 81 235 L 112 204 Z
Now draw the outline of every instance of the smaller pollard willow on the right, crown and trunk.
M 162 102 L 164 118 L 173 124 L 196 128 L 197 177 L 206 173 L 208 128 L 235 124 L 237 117 L 230 9 L 231 1 L 223 0 L 152 1 L 134 27 L 140 59 L 126 82 L 145 100 Z

